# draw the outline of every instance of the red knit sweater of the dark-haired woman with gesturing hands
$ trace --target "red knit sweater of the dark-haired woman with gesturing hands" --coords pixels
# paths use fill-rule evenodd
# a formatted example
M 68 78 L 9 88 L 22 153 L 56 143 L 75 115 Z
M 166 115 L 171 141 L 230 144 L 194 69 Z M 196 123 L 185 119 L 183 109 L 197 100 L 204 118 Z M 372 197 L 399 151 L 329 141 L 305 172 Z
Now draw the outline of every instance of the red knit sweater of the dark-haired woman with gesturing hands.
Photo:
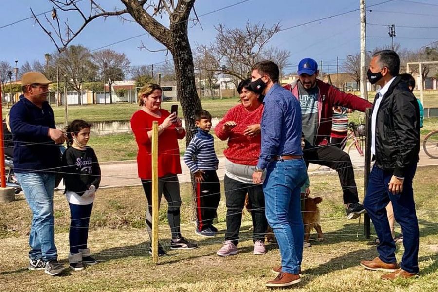
M 216 125 L 215 133 L 220 140 L 228 139 L 228 148 L 223 151 L 225 157 L 236 164 L 257 165 L 260 156 L 261 135 L 245 136 L 246 127 L 260 124 L 263 105 L 249 112 L 241 104 L 231 108 L 223 119 Z M 223 124 L 228 121 L 236 122 L 237 126 L 231 131 L 224 131 Z

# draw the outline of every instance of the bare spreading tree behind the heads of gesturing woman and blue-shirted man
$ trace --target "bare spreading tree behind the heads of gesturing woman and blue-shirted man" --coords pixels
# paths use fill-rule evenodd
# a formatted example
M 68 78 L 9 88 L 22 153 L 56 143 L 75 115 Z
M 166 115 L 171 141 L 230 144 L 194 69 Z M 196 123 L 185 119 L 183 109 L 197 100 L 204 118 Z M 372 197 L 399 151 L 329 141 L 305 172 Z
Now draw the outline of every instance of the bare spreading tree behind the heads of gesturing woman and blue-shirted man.
M 282 74 L 290 52 L 268 46 L 280 29 L 279 24 L 267 27 L 265 24 L 249 22 L 244 28 L 230 29 L 219 23 L 215 41 L 197 48 L 200 59 L 205 60 L 199 63 L 201 71 L 226 74 L 243 80 L 251 75 L 251 67 L 255 63 L 269 59 L 278 65 Z

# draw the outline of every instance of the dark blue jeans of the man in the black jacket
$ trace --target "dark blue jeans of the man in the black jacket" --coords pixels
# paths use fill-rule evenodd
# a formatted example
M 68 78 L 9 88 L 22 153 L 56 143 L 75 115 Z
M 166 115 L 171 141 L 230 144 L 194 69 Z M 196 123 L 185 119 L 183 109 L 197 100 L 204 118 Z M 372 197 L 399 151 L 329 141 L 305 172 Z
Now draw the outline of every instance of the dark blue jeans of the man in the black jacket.
M 417 215 L 415 213 L 414 191 L 412 180 L 417 165 L 407 167 L 403 181 L 403 192 L 393 194 L 388 190 L 392 170 L 383 170 L 374 166 L 368 182 L 364 207 L 373 221 L 380 244 L 377 247 L 379 258 L 385 263 L 397 262 L 395 257 L 396 245 L 391 235 L 386 205 L 392 202 L 394 219 L 402 226 L 404 254 L 400 267 L 409 273 L 418 273 L 418 250 L 420 233 Z

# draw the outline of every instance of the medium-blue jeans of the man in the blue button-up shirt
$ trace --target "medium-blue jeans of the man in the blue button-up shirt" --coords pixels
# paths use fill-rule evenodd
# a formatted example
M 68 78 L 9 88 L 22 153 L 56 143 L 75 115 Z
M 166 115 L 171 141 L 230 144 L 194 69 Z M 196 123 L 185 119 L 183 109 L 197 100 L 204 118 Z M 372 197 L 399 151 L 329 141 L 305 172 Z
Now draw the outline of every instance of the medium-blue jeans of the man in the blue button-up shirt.
M 300 188 L 306 178 L 304 160 L 279 160 L 268 164 L 263 183 L 266 219 L 280 247 L 281 270 L 291 274 L 298 274 L 303 260 Z

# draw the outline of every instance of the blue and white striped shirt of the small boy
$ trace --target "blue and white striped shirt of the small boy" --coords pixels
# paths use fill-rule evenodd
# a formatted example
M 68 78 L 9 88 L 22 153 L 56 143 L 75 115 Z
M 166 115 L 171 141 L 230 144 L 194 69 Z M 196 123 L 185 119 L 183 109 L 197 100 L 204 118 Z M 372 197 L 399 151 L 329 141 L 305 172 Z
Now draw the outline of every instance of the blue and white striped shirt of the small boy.
M 198 129 L 198 133 L 185 150 L 184 163 L 191 173 L 199 170 L 217 170 L 219 159 L 216 156 L 213 136 Z

